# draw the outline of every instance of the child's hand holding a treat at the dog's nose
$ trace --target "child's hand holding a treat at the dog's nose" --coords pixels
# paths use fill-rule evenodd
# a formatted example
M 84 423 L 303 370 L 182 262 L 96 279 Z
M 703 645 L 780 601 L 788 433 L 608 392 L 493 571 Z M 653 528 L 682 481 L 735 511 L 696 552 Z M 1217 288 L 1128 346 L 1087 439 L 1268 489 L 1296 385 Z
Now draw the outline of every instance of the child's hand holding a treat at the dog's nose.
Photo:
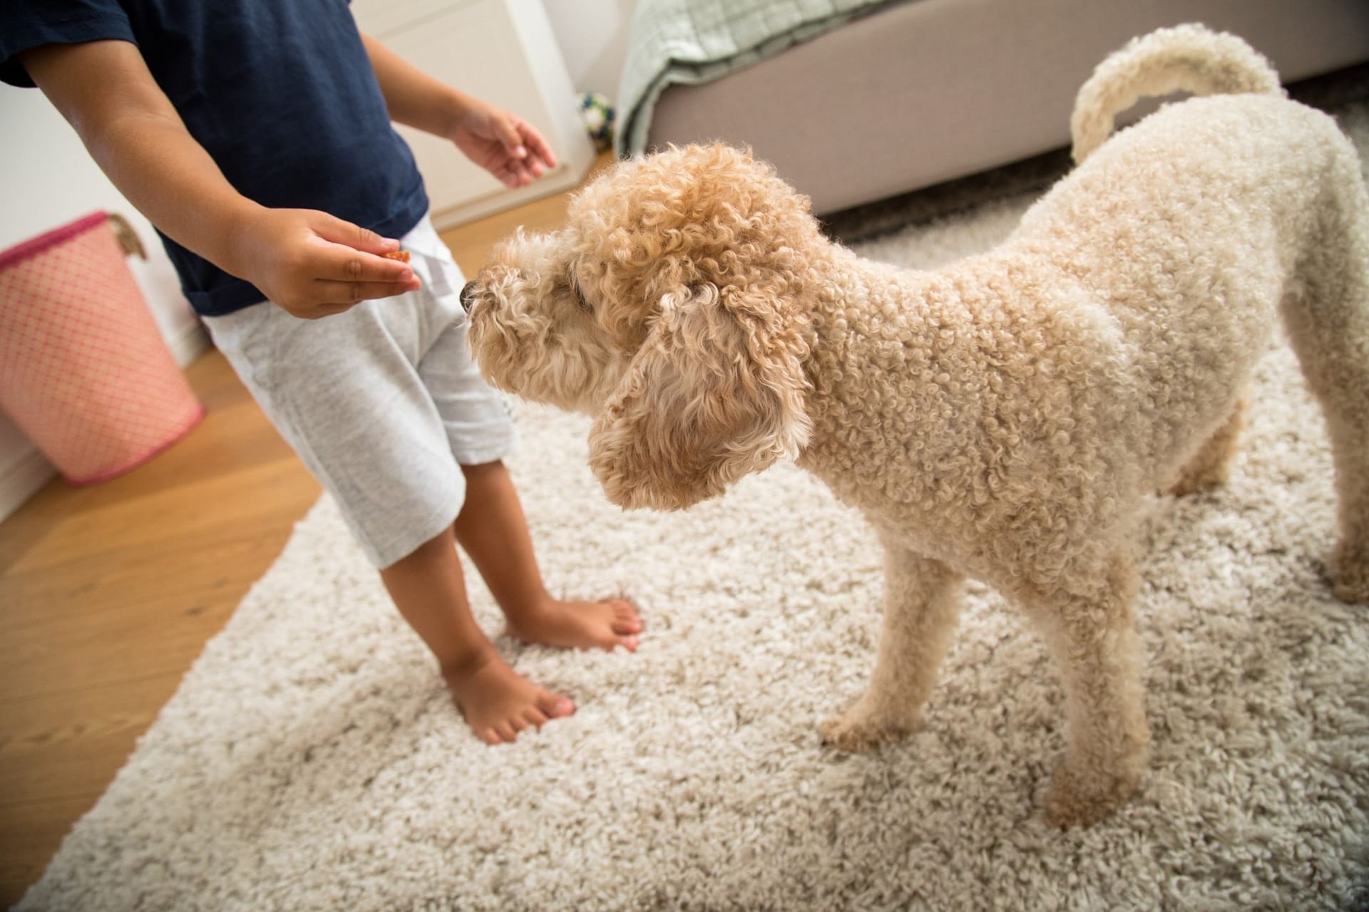
M 293 316 L 316 320 L 419 287 L 398 241 L 314 209 L 255 206 L 233 231 L 230 272 Z

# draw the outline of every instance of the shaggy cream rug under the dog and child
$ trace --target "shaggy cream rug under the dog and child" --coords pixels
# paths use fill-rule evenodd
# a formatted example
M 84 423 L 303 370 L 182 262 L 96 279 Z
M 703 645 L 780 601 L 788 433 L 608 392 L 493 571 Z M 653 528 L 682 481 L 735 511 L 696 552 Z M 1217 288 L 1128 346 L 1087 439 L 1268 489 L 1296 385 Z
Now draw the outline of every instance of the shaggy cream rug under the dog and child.
M 1025 204 L 862 250 L 932 265 Z M 322 500 L 22 908 L 1353 908 L 1369 608 L 1328 591 L 1329 457 L 1287 347 L 1251 401 L 1231 484 L 1157 498 L 1139 536 L 1154 757 L 1090 830 L 1040 820 L 1061 690 L 997 593 L 971 587 L 921 732 L 834 752 L 816 726 L 864 686 L 878 632 L 860 518 L 789 465 L 684 514 L 622 513 L 586 421 L 523 406 L 512 466 L 545 573 L 634 596 L 639 652 L 500 639 L 579 712 L 489 748 Z

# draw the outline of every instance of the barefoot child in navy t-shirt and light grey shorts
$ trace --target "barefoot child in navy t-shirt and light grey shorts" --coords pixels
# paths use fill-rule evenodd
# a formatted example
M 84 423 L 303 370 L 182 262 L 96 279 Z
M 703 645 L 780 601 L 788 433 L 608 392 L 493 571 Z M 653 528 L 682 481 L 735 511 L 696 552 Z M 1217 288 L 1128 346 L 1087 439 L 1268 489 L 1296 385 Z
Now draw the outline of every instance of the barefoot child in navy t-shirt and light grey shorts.
M 471 362 L 463 279 L 390 120 L 511 187 L 554 167 L 537 130 L 361 36 L 342 0 L 5 0 L 0 78 L 40 86 L 157 227 L 474 732 L 500 744 L 571 714 L 476 626 L 456 544 L 524 640 L 635 649 L 642 623 L 623 600 L 546 592 L 501 462 L 513 427 Z M 401 246 L 409 263 L 383 256 Z

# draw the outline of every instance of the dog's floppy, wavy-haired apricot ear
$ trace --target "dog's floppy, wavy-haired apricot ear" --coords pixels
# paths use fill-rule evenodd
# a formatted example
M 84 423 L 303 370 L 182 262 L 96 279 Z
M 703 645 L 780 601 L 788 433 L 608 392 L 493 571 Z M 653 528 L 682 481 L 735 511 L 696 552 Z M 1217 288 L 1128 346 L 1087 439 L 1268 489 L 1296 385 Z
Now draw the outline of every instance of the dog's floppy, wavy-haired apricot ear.
M 590 429 L 590 468 L 623 507 L 678 510 L 808 442 L 806 343 L 763 290 L 661 295 L 648 336 Z

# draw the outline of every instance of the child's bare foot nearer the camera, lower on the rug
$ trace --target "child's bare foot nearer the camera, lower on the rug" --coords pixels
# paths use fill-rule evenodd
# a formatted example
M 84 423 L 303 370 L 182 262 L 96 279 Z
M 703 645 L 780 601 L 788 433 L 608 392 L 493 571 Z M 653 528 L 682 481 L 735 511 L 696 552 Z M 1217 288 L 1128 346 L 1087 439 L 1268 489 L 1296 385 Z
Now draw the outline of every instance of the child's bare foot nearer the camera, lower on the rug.
M 519 732 L 541 729 L 550 719 L 575 712 L 568 697 L 520 677 L 493 649 L 442 669 L 442 677 L 467 725 L 486 744 L 511 744 Z

